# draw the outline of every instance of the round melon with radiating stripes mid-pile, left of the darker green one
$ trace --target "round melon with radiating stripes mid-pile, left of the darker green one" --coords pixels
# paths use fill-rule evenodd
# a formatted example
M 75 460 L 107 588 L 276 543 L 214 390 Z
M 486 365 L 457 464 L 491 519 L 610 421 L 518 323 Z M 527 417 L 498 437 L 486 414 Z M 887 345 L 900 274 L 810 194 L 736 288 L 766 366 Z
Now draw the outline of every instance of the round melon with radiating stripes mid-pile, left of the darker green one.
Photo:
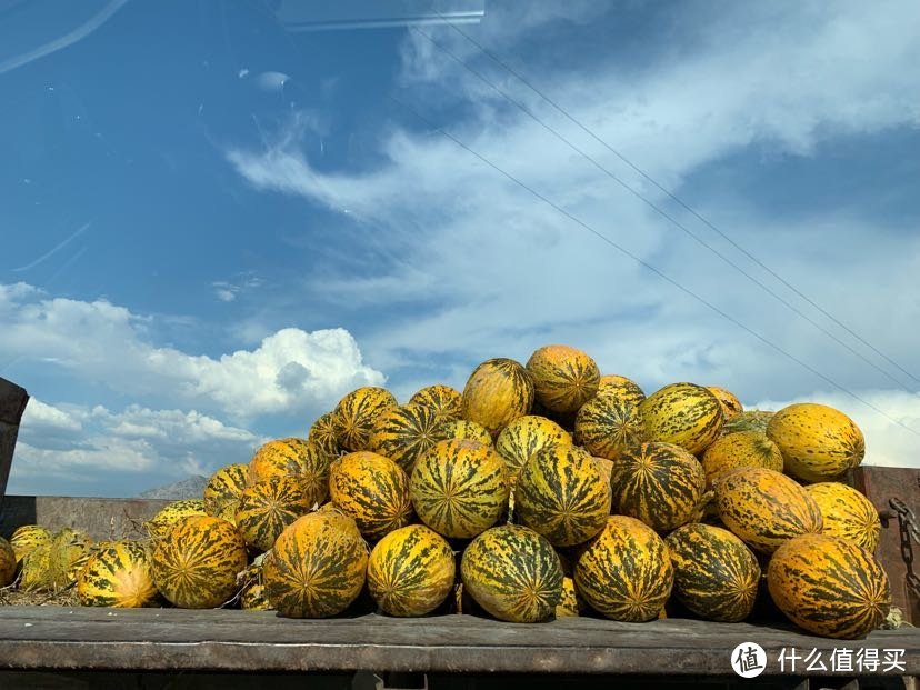
M 439 534 L 469 539 L 494 524 L 508 503 L 504 461 L 483 443 L 450 439 L 437 443 L 412 470 L 416 513 Z

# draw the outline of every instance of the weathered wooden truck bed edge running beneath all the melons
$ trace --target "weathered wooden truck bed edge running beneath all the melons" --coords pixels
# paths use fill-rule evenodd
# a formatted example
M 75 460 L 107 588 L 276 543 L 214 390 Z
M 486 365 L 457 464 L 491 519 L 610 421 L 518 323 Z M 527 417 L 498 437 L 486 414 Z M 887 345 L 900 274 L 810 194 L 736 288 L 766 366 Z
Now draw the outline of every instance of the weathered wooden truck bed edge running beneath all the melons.
M 270 611 L 0 608 L 0 668 L 9 669 L 733 677 L 729 657 L 742 642 L 764 648 L 767 676 L 781 674 L 778 656 L 784 648 L 801 654 L 817 649 L 824 658 L 834 649 L 877 649 L 880 659 L 883 650 L 902 649 L 903 671 L 888 674 L 920 673 L 914 629 L 840 641 L 781 627 L 678 619 L 631 624 L 570 618 L 522 626 L 472 616 L 291 620 Z M 800 661 L 784 673 L 806 671 Z

